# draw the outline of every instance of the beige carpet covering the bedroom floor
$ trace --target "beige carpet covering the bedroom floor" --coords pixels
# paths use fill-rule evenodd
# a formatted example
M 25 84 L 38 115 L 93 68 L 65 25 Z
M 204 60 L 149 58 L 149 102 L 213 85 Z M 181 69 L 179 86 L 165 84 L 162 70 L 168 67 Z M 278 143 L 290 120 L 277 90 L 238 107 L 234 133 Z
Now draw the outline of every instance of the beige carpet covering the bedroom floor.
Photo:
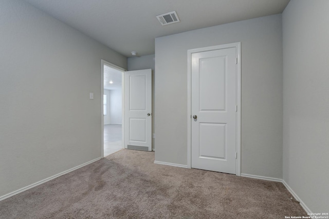
M 153 164 L 121 150 L 0 202 L 0 218 L 284 218 L 302 216 L 282 183 Z

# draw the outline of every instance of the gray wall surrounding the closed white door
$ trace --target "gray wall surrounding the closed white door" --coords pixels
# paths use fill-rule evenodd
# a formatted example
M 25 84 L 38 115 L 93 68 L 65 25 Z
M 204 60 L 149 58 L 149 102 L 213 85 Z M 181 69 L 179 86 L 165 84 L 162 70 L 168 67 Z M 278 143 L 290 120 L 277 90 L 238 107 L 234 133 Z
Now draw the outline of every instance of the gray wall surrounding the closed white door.
M 282 178 L 281 14 L 155 39 L 155 160 L 187 164 L 187 50 L 241 42 L 242 173 Z

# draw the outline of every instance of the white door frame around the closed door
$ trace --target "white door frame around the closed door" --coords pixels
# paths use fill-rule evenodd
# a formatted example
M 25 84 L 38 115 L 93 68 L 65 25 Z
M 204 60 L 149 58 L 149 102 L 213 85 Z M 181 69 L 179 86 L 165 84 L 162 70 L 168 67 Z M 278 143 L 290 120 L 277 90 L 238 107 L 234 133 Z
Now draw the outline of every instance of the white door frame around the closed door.
M 217 46 L 203 47 L 197 49 L 189 49 L 187 51 L 187 167 L 191 167 L 192 162 L 192 54 L 197 52 L 206 52 L 211 50 L 218 49 L 228 49 L 235 48 L 236 49 L 236 159 L 235 159 L 235 175 L 241 175 L 241 42 L 231 43 L 231 44 L 223 44 Z

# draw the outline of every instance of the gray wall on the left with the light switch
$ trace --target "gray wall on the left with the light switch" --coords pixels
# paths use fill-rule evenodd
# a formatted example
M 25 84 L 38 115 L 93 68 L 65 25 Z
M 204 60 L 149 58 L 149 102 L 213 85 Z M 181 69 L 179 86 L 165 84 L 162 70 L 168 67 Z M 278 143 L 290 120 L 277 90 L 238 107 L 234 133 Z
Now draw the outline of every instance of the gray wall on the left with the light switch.
M 25 2 L 0 1 L 0 33 L 3 196 L 101 156 L 101 59 L 127 66 Z

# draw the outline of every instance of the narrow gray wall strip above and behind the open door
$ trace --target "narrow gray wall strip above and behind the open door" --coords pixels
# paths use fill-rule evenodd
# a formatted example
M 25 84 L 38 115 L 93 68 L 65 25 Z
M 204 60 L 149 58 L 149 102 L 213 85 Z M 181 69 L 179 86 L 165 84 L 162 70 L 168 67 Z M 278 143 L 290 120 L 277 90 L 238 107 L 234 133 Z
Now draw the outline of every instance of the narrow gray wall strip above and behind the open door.
M 152 69 L 152 133 L 155 133 L 155 57 L 153 55 L 143 55 L 140 57 L 127 58 L 128 71 Z M 152 148 L 155 149 L 154 139 L 152 138 Z

